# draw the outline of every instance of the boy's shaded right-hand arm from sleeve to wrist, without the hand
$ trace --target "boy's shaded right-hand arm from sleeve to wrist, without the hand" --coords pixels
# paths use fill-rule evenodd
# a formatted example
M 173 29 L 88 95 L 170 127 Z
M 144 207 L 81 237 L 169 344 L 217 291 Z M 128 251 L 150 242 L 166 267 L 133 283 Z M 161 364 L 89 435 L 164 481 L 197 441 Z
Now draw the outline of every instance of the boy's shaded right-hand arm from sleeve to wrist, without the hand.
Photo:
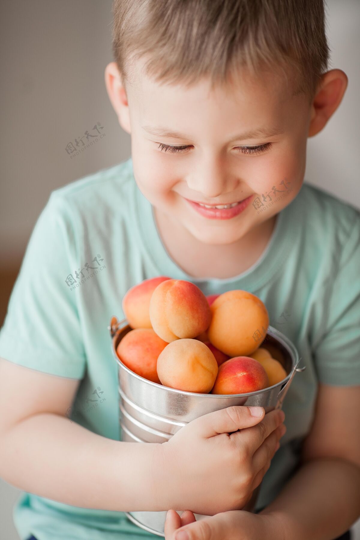
M 302 466 L 259 516 L 274 518 L 279 538 L 330 540 L 360 514 L 360 386 L 320 384 Z

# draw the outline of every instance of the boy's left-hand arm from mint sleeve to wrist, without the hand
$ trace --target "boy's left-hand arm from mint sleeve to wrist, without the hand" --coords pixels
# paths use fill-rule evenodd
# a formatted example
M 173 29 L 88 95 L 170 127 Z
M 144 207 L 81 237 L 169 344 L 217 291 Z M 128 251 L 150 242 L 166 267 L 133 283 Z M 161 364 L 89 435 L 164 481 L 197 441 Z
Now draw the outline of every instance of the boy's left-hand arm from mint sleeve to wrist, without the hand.
M 155 443 L 92 433 L 65 416 L 79 381 L 0 359 L 0 477 L 83 508 L 157 510 Z

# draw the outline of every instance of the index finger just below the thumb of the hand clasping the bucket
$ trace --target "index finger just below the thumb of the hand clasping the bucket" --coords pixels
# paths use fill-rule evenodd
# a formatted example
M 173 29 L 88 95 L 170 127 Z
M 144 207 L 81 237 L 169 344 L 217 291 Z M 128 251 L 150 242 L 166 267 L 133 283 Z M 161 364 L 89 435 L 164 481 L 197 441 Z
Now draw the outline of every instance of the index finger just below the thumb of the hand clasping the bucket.
M 257 424 L 257 426 L 242 429 L 240 433 L 235 433 L 234 440 L 240 447 L 243 448 L 245 446 L 248 453 L 253 455 L 270 433 L 282 424 L 284 417 L 285 415 L 282 410 L 272 410 L 264 416 L 263 421 Z M 233 438 L 233 435 L 231 437 Z

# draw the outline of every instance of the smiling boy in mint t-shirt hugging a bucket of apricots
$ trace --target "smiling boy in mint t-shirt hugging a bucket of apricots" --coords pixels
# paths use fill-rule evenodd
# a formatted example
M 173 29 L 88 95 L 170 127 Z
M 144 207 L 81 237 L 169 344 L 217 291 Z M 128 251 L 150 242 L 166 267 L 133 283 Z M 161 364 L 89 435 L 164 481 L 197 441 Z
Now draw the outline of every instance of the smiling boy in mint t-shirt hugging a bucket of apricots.
M 210 517 L 172 510 L 168 539 L 338 537 L 358 514 L 360 215 L 303 183 L 307 138 L 348 82 L 327 71 L 323 2 L 116 0 L 114 52 L 105 81 L 132 158 L 51 194 L 0 333 L 19 534 L 142 538 L 122 511 L 186 504 Z M 252 292 L 294 342 L 307 369 L 275 455 L 280 415 L 247 407 L 171 444 L 119 442 L 107 325 L 155 275 Z M 235 460 L 221 434 L 236 429 Z M 258 513 L 242 511 L 264 474 Z

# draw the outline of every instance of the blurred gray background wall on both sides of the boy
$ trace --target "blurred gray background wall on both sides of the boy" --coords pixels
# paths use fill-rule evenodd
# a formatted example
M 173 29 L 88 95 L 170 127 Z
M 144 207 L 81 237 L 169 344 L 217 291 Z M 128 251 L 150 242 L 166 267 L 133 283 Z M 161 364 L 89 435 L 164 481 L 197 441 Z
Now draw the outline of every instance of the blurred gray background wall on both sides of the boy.
M 309 139 L 305 178 L 360 208 L 360 3 L 328 5 L 330 68 L 343 69 L 349 86 L 328 126 Z M 110 0 L 2 0 L 0 266 L 22 257 L 53 189 L 130 156 L 130 137 L 104 85 L 110 24 Z M 93 133 L 97 122 L 105 137 L 71 159 L 66 144 Z M 18 538 L 12 525 L 18 494 L 0 481 L 1 539 Z

